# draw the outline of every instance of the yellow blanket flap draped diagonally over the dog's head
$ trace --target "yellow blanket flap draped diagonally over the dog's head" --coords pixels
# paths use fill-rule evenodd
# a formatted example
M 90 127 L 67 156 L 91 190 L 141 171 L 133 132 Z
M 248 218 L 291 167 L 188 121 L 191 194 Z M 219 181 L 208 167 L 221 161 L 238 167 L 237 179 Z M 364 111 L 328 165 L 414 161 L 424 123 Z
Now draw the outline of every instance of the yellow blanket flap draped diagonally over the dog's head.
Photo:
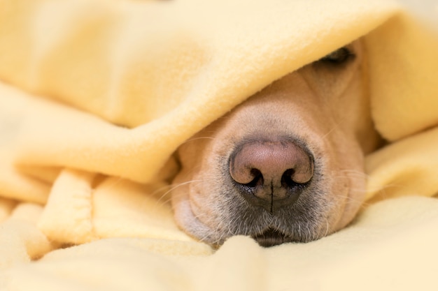
M 301 1 L 282 13 L 276 6 L 264 10 L 263 1 L 247 7 L 234 1 L 64 0 L 20 10 L 25 3 L 8 3 L 15 11 L 0 15 L 3 31 L 15 31 L 0 31 L 2 80 L 136 128 L 43 105 L 24 124 L 18 161 L 141 182 L 153 179 L 179 144 L 251 94 L 395 13 L 393 3 L 380 1 L 318 2 L 322 11 L 337 6 L 334 14 L 313 13 L 312 4 Z M 54 10 L 57 16 L 48 17 Z M 294 10 L 304 14 L 291 22 Z

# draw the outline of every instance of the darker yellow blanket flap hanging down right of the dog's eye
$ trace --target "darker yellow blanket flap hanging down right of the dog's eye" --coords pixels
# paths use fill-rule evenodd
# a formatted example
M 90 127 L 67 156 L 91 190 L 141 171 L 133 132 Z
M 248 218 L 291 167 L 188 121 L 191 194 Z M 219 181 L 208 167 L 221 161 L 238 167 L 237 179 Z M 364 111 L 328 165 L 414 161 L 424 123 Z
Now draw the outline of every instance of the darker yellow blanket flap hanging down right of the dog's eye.
M 436 33 L 436 28 L 402 14 L 366 38 L 372 114 L 379 132 L 391 142 L 438 124 Z

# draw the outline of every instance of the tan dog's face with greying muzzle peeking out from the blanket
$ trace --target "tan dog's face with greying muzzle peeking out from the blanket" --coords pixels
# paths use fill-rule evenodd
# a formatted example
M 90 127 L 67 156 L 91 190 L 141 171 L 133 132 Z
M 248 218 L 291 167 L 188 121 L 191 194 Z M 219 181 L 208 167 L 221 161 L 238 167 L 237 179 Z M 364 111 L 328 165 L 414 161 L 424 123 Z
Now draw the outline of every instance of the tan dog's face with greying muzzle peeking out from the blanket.
M 311 241 L 346 226 L 365 195 L 369 117 L 360 40 L 283 77 L 178 149 L 178 225 L 220 245 Z

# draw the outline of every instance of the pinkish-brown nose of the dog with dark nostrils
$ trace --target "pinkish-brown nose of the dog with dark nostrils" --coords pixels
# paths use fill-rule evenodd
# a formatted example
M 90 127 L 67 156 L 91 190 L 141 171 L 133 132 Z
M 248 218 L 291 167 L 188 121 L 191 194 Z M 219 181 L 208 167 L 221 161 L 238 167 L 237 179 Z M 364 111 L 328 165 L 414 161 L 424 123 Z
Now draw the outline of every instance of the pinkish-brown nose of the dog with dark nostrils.
M 234 150 L 229 173 L 246 200 L 273 213 L 309 184 L 313 158 L 290 140 L 248 142 Z

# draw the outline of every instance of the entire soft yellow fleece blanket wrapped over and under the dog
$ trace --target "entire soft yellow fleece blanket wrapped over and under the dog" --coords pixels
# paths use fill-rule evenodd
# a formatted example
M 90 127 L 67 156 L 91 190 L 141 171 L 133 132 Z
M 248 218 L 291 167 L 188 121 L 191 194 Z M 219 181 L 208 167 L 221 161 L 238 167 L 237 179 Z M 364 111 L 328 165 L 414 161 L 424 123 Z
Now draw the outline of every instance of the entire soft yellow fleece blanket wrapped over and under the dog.
M 436 290 L 437 35 L 383 0 L 0 0 L 0 289 Z M 178 145 L 362 36 L 388 144 L 358 218 L 274 248 L 178 230 Z

